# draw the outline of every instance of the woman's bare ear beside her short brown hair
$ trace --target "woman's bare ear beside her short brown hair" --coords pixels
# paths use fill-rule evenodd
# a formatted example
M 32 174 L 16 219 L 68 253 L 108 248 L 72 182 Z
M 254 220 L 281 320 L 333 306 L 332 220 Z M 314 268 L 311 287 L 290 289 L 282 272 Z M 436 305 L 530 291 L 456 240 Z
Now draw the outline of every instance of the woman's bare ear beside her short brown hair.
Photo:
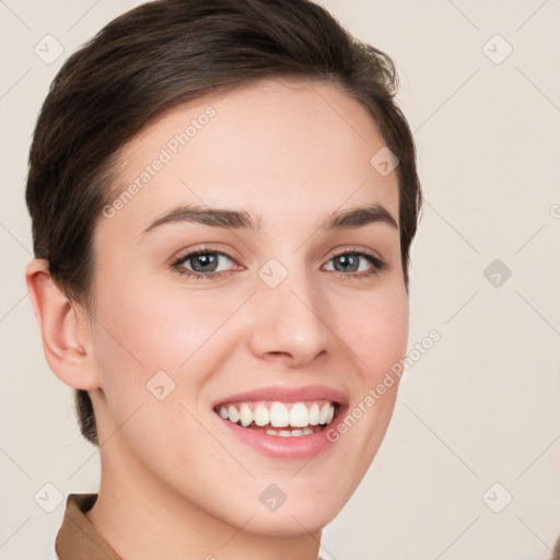
M 65 295 L 52 280 L 45 259 L 36 258 L 27 265 L 25 281 L 49 368 L 74 389 L 97 388 L 92 332 L 85 310 Z

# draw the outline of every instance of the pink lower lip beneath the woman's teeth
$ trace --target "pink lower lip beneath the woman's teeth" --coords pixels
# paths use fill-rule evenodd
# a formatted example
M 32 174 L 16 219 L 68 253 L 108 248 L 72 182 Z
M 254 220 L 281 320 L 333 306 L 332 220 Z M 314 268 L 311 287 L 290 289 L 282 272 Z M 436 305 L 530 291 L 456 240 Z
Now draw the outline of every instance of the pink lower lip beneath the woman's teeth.
M 229 420 L 224 420 L 219 415 L 215 415 L 220 423 L 238 438 L 242 442 L 250 445 L 254 450 L 268 455 L 273 458 L 308 458 L 322 453 L 331 447 L 336 441 L 327 439 L 327 433 L 337 429 L 337 425 L 342 422 L 343 408 L 339 406 L 339 410 L 334 421 L 323 429 L 320 432 L 311 433 L 308 435 L 290 435 L 282 438 L 281 435 L 268 435 L 265 432 L 252 430 L 250 428 L 243 428 L 234 424 Z

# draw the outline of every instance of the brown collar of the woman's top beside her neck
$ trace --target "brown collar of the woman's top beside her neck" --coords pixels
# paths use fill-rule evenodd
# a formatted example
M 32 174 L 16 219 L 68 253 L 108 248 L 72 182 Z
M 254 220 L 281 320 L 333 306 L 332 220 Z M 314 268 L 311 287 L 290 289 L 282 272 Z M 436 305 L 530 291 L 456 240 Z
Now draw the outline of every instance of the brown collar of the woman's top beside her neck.
M 97 494 L 68 497 L 65 518 L 55 541 L 60 560 L 122 560 L 85 516 L 96 500 Z

